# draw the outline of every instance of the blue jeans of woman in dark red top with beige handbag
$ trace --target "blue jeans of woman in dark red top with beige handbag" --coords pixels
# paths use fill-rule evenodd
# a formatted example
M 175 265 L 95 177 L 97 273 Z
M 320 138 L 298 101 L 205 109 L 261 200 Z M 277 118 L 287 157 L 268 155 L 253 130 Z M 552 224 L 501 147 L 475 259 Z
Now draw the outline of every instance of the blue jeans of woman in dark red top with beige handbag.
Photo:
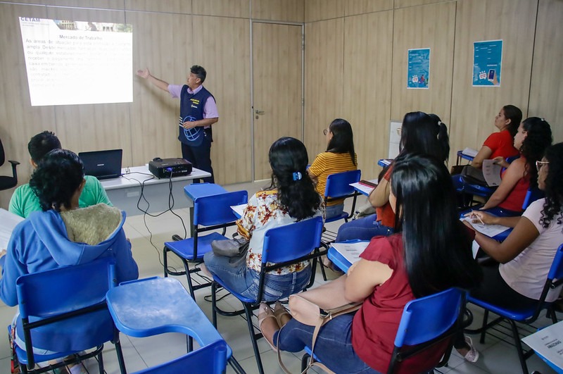
M 355 354 L 352 347 L 352 320 L 354 313 L 344 314 L 322 326 L 315 342 L 315 356 L 335 373 L 378 373 Z M 304 325 L 295 318 L 274 334 L 274 344 L 290 352 L 311 347 L 313 326 Z M 279 335 L 279 340 L 278 340 Z

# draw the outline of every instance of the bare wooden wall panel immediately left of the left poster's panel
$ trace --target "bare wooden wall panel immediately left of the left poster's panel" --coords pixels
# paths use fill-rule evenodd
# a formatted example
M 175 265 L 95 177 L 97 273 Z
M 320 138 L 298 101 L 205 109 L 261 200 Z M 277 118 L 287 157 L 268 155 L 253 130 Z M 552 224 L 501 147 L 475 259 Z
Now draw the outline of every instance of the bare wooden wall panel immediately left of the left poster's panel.
M 377 177 L 377 160 L 388 152 L 392 50 L 393 11 L 344 20 L 343 113 L 364 179 Z

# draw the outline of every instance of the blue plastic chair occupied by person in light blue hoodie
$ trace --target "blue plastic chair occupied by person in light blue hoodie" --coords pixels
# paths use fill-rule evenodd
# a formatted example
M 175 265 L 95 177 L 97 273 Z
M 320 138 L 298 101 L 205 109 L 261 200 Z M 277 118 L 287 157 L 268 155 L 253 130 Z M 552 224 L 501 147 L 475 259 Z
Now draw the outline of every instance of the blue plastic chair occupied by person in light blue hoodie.
M 22 275 L 15 287 L 20 309 L 16 329 L 25 342 L 25 350 L 16 345 L 15 351 L 23 373 L 44 373 L 93 356 L 98 356 L 104 373 L 104 342 L 115 344 L 120 368 L 125 368 L 119 334 L 106 306 L 106 292 L 115 287 L 113 258 Z M 32 347 L 57 353 L 33 354 Z M 93 347 L 94 351 L 80 354 Z M 75 359 L 34 369 L 37 362 L 72 354 Z

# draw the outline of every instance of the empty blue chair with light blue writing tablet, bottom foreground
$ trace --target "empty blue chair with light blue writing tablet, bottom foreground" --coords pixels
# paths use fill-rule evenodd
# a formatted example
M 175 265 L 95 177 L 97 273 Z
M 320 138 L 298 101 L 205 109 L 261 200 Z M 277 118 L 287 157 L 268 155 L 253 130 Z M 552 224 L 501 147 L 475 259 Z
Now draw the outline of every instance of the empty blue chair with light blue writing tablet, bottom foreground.
M 163 300 L 166 302 L 163 303 Z M 211 325 L 182 284 L 172 278 L 146 278 L 122 282 L 107 294 L 108 308 L 118 330 L 132 337 L 179 332 L 193 337 L 200 348 L 139 373 L 223 373 L 227 360 L 243 373 L 232 350 Z

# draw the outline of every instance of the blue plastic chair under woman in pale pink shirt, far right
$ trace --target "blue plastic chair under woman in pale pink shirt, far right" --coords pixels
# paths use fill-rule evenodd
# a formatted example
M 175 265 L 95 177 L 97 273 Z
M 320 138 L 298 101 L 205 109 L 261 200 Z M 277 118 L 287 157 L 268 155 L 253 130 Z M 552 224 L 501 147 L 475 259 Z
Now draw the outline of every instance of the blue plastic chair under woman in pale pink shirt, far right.
M 551 318 L 553 323 L 557 323 L 555 309 L 553 308 L 552 303 L 545 301 L 545 297 L 548 296 L 550 289 L 555 289 L 561 284 L 563 284 L 563 244 L 559 246 L 557 254 L 555 254 L 555 258 L 553 258 L 553 262 L 548 273 L 548 279 L 545 280 L 545 285 L 543 286 L 543 291 L 538 301 L 531 304 L 521 305 L 520 308 L 517 309 L 509 309 L 501 308 L 500 306 L 476 299 L 475 297 L 469 295 L 467 297 L 467 301 L 477 306 L 481 306 L 481 308 L 485 309 L 485 313 L 483 314 L 483 324 L 481 325 L 481 328 L 476 330 L 465 330 L 465 332 L 470 334 L 481 334 L 481 339 L 479 341 L 484 343 L 485 334 L 489 328 L 493 328 L 493 326 L 498 325 L 503 320 L 508 321 L 512 330 L 512 338 L 514 340 L 513 345 L 518 351 L 518 358 L 520 360 L 522 373 L 527 374 L 529 371 L 528 366 L 526 365 L 526 359 L 533 354 L 533 350 L 530 349 L 528 351 L 524 351 L 524 349 L 522 349 L 516 323 L 524 323 L 526 325 L 533 323 L 536 319 L 538 319 L 538 316 L 540 316 L 543 309 L 547 309 L 547 316 Z M 497 314 L 499 317 L 495 318 L 495 320 L 492 320 L 491 322 L 488 322 L 489 311 Z

